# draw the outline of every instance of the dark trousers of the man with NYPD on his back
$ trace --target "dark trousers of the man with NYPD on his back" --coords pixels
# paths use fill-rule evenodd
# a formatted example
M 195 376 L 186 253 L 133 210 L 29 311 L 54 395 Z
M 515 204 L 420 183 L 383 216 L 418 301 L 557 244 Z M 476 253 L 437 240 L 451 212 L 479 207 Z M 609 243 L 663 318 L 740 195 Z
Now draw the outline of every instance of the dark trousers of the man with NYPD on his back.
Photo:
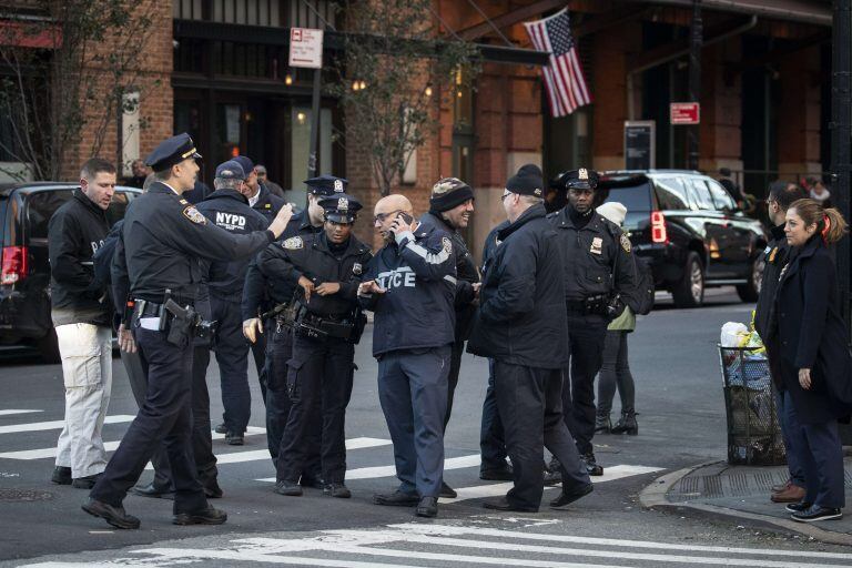
M 215 349 L 225 428 L 243 434 L 252 413 L 252 394 L 248 389 L 248 342 L 243 336 L 240 304 L 213 297 L 211 305 L 213 320 L 219 322 Z

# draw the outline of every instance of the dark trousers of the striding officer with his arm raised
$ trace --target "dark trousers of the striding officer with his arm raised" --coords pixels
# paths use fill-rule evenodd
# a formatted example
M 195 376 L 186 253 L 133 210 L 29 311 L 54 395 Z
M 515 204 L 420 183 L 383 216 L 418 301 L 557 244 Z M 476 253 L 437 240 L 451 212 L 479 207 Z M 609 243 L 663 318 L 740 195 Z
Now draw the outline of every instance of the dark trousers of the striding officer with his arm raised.
M 206 508 L 192 452 L 192 346 L 176 347 L 163 332 L 133 331 L 148 368 L 148 394 L 91 497 L 118 507 L 165 443 L 175 488 L 174 511 Z

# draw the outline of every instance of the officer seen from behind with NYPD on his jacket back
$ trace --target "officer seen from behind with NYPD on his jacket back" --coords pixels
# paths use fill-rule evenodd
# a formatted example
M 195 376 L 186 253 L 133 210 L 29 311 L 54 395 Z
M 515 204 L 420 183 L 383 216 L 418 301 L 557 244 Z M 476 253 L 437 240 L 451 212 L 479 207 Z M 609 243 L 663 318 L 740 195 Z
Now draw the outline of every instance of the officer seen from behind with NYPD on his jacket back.
M 220 164 L 213 181 L 215 191 L 196 209 L 229 233 L 247 234 L 266 229 L 266 219 L 248 206 L 244 181 L 245 173 L 239 162 L 229 160 Z M 240 310 L 248 262 L 248 258 L 214 262 L 210 265 L 207 282 L 212 320 L 219 324 L 214 344 L 225 410 L 225 443 L 234 446 L 243 445 L 252 410 L 248 343 L 243 336 Z

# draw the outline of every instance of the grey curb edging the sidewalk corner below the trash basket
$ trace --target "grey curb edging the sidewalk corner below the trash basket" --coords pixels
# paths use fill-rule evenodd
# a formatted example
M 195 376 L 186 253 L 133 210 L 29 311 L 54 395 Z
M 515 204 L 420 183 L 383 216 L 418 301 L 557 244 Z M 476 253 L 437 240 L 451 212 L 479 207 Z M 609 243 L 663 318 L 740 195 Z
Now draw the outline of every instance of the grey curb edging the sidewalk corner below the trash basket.
M 749 521 L 750 525 L 761 526 L 762 528 L 780 528 L 788 532 L 795 532 L 811 537 L 821 542 L 852 546 L 852 535 L 848 535 L 845 532 L 833 532 L 831 530 L 823 530 L 814 525 L 809 525 L 805 523 L 795 523 L 793 520 L 772 517 L 769 515 L 759 515 L 757 513 L 746 513 L 728 507 L 719 507 L 716 505 L 690 501 L 670 503 L 666 499 L 666 494 L 669 491 L 669 489 L 683 477 L 688 476 L 696 469 L 700 469 L 712 464 L 718 464 L 720 460 L 718 459 L 712 462 L 704 462 L 702 464 L 686 467 L 683 469 L 679 469 L 677 471 L 672 471 L 670 474 L 658 477 L 653 480 L 653 483 L 648 485 L 639 493 L 639 503 L 646 509 L 691 509 L 693 511 L 729 520 L 738 519 L 741 521 Z

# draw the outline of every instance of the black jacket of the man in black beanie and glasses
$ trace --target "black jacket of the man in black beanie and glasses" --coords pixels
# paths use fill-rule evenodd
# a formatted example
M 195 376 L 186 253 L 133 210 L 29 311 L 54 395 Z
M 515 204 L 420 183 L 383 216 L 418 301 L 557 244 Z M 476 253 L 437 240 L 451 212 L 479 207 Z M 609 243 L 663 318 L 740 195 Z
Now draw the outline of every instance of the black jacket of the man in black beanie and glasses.
M 483 274 L 467 351 L 514 365 L 561 368 L 567 362 L 562 255 L 542 204 L 500 230 Z

